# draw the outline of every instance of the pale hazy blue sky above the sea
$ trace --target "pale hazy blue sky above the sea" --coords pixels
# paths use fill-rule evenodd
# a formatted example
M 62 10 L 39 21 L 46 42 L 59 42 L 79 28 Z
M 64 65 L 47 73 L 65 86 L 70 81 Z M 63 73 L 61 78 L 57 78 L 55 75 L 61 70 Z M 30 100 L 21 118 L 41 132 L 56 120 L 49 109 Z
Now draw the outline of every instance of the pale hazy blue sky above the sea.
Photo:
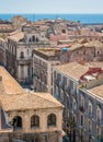
M 103 0 L 0 0 L 0 13 L 103 13 Z

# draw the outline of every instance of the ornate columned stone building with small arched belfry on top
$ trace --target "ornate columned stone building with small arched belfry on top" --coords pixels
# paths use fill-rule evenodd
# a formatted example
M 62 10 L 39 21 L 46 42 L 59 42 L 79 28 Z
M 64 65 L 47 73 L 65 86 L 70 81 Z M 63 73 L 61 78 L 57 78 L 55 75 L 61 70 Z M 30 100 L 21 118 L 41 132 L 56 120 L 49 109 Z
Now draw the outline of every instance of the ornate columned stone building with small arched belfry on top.
M 44 38 L 43 38 L 44 39 Z M 47 47 L 37 32 L 14 32 L 8 37 L 7 68 L 21 83 L 32 84 L 32 51 L 35 47 Z

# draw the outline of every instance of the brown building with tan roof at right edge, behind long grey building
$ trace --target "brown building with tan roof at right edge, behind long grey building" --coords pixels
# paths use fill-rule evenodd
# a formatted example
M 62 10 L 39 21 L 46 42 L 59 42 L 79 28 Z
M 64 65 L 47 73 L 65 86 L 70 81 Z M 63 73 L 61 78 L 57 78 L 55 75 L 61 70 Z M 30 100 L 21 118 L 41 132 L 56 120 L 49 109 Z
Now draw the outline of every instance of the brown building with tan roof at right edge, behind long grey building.
M 103 43 L 96 40 L 85 44 L 75 43 L 70 44 L 68 50 L 60 51 L 60 61 L 62 63 L 79 60 L 85 62 L 103 61 Z

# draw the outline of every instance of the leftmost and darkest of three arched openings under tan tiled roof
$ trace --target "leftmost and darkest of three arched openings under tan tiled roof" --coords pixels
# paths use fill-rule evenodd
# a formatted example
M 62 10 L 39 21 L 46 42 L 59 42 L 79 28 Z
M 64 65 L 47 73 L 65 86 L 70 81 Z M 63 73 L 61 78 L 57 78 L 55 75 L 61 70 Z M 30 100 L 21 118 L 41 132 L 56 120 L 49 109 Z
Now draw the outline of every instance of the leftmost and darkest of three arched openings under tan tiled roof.
M 15 116 L 13 118 L 13 127 L 14 127 L 14 129 L 21 129 L 22 128 L 22 118 L 20 116 Z

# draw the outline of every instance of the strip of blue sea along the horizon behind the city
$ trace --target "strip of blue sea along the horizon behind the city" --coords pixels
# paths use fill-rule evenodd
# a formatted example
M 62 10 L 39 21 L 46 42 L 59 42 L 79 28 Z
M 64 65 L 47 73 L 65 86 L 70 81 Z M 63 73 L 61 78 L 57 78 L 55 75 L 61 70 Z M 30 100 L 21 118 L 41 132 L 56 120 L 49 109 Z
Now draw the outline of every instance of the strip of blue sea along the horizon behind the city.
M 79 21 L 82 24 L 103 24 L 103 14 L 0 14 L 0 19 L 11 21 L 15 15 L 22 15 L 32 22 L 44 19 L 64 19 L 75 22 Z

